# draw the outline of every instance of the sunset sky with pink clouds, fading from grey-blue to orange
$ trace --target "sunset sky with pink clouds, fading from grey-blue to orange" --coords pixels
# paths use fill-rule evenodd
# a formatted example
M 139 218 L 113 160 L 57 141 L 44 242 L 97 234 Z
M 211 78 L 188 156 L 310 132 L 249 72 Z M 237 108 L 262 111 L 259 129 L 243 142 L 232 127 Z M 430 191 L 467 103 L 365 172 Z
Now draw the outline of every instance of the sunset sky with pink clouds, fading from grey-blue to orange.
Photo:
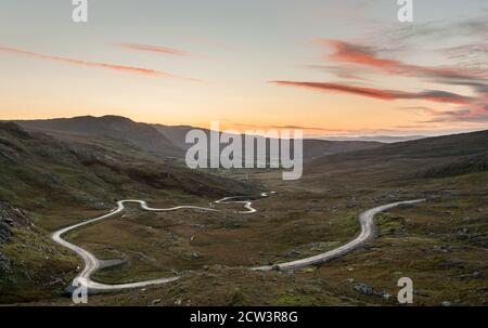
M 306 135 L 488 128 L 488 3 L 0 2 L 0 119 L 120 115 Z

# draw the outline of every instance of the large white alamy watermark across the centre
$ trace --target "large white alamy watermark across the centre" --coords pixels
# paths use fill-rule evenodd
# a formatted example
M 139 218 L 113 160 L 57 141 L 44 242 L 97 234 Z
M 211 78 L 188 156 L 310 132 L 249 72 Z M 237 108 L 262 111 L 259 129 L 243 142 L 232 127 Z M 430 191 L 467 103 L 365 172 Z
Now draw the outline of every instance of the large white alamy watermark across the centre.
M 201 129 L 187 133 L 185 162 L 191 169 L 285 169 L 283 180 L 298 180 L 303 174 L 303 130 L 235 130 L 219 132 L 218 121 L 210 132 Z M 221 145 L 223 148 L 221 149 Z

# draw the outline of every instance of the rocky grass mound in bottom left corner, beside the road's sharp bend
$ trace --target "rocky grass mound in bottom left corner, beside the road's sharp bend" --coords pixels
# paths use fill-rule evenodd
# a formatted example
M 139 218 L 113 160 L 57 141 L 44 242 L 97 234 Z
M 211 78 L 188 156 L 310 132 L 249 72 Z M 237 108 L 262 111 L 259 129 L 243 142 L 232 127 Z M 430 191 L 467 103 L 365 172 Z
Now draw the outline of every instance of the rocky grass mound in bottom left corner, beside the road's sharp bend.
M 61 294 L 77 259 L 21 209 L 0 201 L 0 304 Z

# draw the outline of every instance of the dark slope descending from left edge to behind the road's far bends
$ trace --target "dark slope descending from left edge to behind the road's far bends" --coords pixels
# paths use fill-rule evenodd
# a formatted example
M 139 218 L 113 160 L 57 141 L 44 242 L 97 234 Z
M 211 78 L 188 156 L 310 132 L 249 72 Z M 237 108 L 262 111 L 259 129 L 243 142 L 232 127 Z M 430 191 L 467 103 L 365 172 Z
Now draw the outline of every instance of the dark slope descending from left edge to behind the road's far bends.
M 152 160 L 144 154 L 127 154 L 124 145 L 113 145 L 107 150 L 67 143 L 27 132 L 15 123 L 0 123 L 0 199 L 33 210 L 62 205 L 97 209 L 124 196 L 149 197 L 157 192 L 213 198 L 251 191 L 244 184 Z

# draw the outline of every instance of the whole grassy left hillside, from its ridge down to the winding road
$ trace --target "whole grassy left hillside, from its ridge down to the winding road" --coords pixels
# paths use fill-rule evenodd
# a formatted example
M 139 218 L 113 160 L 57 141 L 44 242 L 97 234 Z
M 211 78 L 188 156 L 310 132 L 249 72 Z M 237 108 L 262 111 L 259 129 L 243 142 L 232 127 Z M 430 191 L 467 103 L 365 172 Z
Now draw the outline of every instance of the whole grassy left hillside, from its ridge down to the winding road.
M 0 123 L 1 303 L 61 296 L 80 263 L 49 233 L 106 212 L 116 200 L 206 206 L 208 199 L 257 193 L 243 183 L 154 160 L 116 140 L 98 141 L 60 141 Z

